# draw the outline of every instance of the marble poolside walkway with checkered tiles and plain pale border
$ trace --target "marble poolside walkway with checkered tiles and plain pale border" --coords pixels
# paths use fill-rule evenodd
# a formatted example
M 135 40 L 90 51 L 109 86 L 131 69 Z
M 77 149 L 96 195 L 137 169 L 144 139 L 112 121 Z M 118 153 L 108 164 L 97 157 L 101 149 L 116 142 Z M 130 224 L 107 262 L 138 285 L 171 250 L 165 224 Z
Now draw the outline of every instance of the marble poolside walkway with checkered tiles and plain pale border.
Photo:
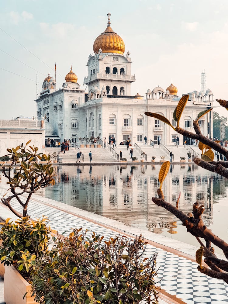
M 4 194 L 5 188 L 0 187 L 0 196 L 2 197 Z M 17 202 L 14 204 L 18 206 Z M 1 218 L 9 217 L 8 209 L 0 206 L 0 212 Z M 191 251 L 187 244 L 167 240 L 168 238 L 157 236 L 146 230 L 126 226 L 123 223 L 38 195 L 34 195 L 31 199 L 28 214 L 33 218 L 42 217 L 45 214 L 50 219 L 52 229 L 59 233 L 65 232 L 64 235 L 68 235 L 73 227 L 97 231 L 106 239 L 119 233 L 131 236 L 142 233 L 145 239 L 151 240 L 146 249 L 147 256 L 154 252 L 157 253 L 157 267 L 159 267 L 157 282 L 160 281 L 158 285 L 164 291 L 161 294 L 166 298 L 170 297 L 170 301 L 166 300 L 167 303 L 228 303 L 228 284 L 200 273 L 194 262 L 195 248 Z M 12 214 L 10 216 L 12 217 Z M 168 242 L 168 247 L 165 242 Z

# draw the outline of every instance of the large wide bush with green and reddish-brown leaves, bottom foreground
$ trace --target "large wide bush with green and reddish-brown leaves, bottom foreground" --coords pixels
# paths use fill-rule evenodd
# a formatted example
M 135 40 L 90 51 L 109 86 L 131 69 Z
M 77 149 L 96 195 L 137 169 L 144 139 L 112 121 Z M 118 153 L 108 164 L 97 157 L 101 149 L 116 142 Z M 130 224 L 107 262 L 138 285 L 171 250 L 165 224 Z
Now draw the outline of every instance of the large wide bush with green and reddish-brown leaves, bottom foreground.
M 60 238 L 32 274 L 39 303 L 157 303 L 156 255 L 145 257 L 142 237 L 104 241 L 94 232 L 74 229 Z

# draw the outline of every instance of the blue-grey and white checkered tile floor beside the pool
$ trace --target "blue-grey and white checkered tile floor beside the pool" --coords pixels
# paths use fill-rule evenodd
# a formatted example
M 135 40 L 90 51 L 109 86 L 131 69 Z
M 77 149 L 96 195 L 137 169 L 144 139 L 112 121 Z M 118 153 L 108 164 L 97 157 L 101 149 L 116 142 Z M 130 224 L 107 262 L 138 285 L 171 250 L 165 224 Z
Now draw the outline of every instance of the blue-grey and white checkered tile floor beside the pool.
M 3 194 L 5 194 L 4 190 L 0 189 L 0 196 Z M 15 202 L 14 206 L 18 206 L 18 203 Z M 28 214 L 33 218 L 42 217 L 45 214 L 50 219 L 52 229 L 59 233 L 65 231 L 64 235 L 68 235 L 71 231 L 70 228 L 73 227 L 97 231 L 98 234 L 102 234 L 107 239 L 117 234 L 108 228 L 44 205 L 42 202 L 31 200 Z M 187 304 L 228 303 L 228 284 L 200 273 L 195 262 L 148 245 L 146 254 L 152 255 L 154 252 L 157 253 L 156 264 L 159 267 L 158 285 L 169 294 L 175 295 Z

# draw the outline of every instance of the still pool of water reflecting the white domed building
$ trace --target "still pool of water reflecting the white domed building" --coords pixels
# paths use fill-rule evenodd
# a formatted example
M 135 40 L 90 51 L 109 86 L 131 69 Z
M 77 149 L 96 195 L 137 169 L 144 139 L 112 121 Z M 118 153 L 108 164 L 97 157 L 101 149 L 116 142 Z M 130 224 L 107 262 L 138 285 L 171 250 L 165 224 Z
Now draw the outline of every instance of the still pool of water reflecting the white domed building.
M 193 236 L 171 213 L 151 198 L 159 188 L 160 165 L 55 166 L 56 184 L 39 195 L 116 219 L 130 226 L 198 246 Z M 194 164 L 171 165 L 163 183 L 168 202 L 192 212 L 195 201 L 205 205 L 203 219 L 212 231 L 227 240 L 228 180 Z

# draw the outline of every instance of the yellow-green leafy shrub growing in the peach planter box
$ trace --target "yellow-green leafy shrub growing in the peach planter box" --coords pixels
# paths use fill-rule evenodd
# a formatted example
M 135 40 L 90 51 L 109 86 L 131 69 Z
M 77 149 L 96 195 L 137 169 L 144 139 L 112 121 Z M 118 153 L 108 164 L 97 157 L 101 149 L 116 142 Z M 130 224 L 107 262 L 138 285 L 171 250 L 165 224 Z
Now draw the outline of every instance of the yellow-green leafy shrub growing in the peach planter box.
M 15 222 L 6 219 L 0 223 L 0 259 L 4 265 L 14 265 L 24 276 L 30 272 L 31 266 L 35 265 L 36 257 L 42 257 L 47 251 L 50 240 L 50 226 L 47 227 L 48 219 L 31 220 L 22 217 Z

